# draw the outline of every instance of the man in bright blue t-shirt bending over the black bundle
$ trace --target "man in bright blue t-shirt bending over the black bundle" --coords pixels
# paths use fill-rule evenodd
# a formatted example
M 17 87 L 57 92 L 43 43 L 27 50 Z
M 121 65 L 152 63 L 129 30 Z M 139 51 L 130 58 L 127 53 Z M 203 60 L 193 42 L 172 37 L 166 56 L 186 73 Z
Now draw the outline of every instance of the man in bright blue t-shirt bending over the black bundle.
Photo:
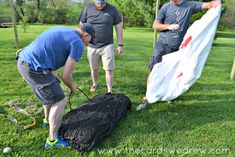
M 43 124 L 49 125 L 46 149 L 69 146 L 58 136 L 67 99 L 52 71 L 64 67 L 62 81 L 75 94 L 72 73 L 83 54 L 84 44 L 88 45 L 94 38 L 95 30 L 88 23 L 77 29 L 56 26 L 40 34 L 19 54 L 18 70 L 43 104 Z

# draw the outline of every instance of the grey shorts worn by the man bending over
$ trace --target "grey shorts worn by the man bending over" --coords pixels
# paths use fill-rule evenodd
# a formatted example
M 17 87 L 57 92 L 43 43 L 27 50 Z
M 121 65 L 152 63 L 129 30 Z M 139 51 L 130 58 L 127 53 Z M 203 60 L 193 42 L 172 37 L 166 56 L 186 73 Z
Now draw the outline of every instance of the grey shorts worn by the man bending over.
M 65 98 L 64 91 L 51 71 L 32 70 L 21 59 L 18 59 L 17 67 L 43 105 L 53 105 Z

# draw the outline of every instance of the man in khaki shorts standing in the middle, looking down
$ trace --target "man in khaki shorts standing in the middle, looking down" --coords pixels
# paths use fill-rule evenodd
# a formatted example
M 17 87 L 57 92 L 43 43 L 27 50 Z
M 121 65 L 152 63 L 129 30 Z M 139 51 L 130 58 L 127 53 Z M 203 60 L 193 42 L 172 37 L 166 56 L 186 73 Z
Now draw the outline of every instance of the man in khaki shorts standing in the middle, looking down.
M 116 28 L 118 39 L 117 53 L 120 55 L 123 52 L 123 31 L 120 15 L 117 9 L 107 3 L 106 0 L 94 0 L 93 3 L 83 9 L 79 21 L 91 23 L 96 32 L 95 44 L 89 44 L 87 49 L 93 82 L 90 92 L 95 92 L 98 88 L 99 61 L 102 58 L 108 93 L 112 93 L 115 68 L 113 26 Z

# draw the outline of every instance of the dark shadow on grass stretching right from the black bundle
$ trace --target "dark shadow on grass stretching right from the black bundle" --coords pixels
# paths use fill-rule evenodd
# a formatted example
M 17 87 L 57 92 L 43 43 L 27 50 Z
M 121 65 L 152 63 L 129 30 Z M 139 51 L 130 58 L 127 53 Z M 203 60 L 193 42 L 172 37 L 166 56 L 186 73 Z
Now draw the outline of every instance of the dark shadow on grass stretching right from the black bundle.
M 150 108 L 157 108 L 154 104 Z M 125 142 L 126 145 L 138 145 L 142 143 L 143 137 L 154 136 L 164 133 L 172 135 L 166 137 L 174 138 L 180 131 L 193 130 L 199 126 L 215 123 L 219 121 L 234 121 L 235 117 L 230 104 L 224 103 L 224 100 L 218 102 L 202 102 L 194 103 L 193 106 L 169 106 L 166 105 L 167 110 L 149 111 L 143 110 L 136 114 L 135 111 L 129 112 L 127 117 L 120 123 L 123 126 L 118 126 L 112 135 L 96 146 L 95 149 L 112 149 L 123 143 L 127 139 L 132 139 L 130 142 Z M 222 111 L 222 112 L 221 112 Z M 132 117 L 132 118 L 130 118 Z M 125 121 L 125 122 L 124 122 Z M 230 126 L 222 126 L 226 129 Z M 230 128 L 233 129 L 233 128 Z M 138 141 L 140 139 L 141 141 Z M 150 139 L 146 139 L 150 140 Z M 158 139 L 153 139 L 158 140 Z M 115 142 L 113 142 L 115 141 Z M 134 143 L 133 143 L 134 142 Z M 163 142 L 163 141 L 162 141 Z M 106 144 L 108 143 L 108 144 Z M 140 145 L 141 147 L 141 145 Z

